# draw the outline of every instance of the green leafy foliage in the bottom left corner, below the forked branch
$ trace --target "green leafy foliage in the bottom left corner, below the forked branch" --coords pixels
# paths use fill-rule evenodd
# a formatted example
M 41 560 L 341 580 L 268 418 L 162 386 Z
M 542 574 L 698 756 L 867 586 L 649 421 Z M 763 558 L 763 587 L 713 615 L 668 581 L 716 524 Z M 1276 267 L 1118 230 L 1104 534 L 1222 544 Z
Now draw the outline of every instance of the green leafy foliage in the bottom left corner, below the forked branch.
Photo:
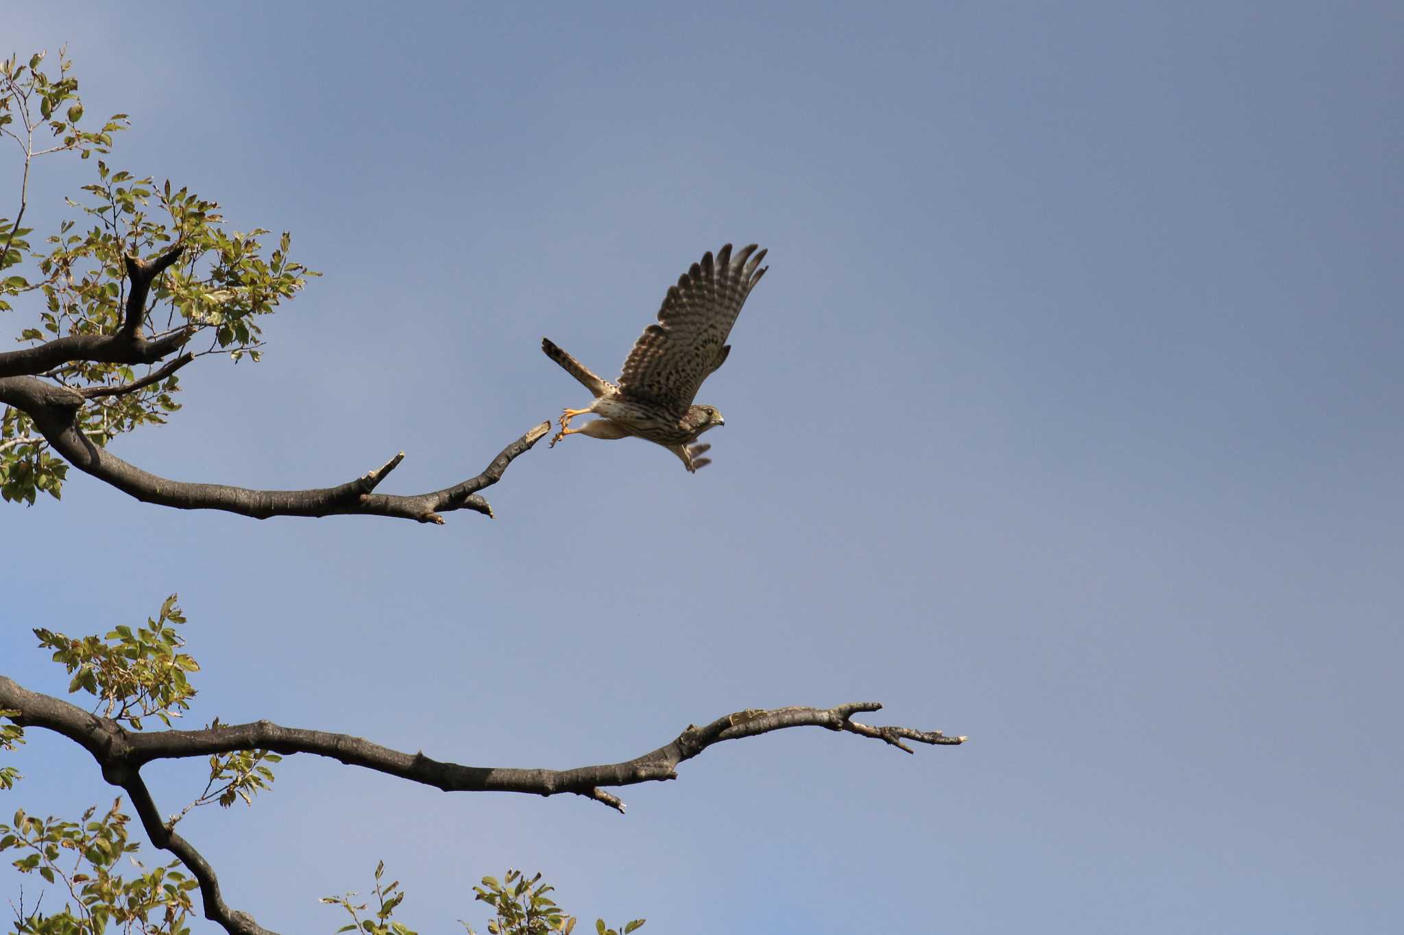
M 185 921 L 198 885 L 178 869 L 178 861 L 147 871 L 132 858 L 136 876 L 117 872 L 118 861 L 138 849 L 128 840 L 131 819 L 121 809 L 117 799 L 101 819 L 93 820 L 97 809 L 88 809 L 80 821 L 37 819 L 21 810 L 14 824 L 0 824 L 0 851 L 20 854 L 15 869 L 67 892 L 63 910 L 52 915 L 42 915 L 41 906 L 15 907 L 15 935 L 100 935 L 112 924 L 143 935 L 190 932 Z

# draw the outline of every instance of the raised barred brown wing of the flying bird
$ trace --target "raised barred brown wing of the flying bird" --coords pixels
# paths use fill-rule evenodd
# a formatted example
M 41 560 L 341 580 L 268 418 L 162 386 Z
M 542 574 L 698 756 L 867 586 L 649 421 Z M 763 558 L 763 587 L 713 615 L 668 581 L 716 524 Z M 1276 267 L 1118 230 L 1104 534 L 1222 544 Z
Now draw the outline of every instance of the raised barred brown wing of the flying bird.
M 619 391 L 663 405 L 681 418 L 702 381 L 731 350 L 726 336 L 746 297 L 765 275 L 764 258 L 765 251 L 757 252 L 755 244 L 731 257 L 727 244 L 716 259 L 708 252 L 701 264 L 692 264 L 678 285 L 668 287 L 658 324 L 644 328 L 635 342 L 623 362 Z

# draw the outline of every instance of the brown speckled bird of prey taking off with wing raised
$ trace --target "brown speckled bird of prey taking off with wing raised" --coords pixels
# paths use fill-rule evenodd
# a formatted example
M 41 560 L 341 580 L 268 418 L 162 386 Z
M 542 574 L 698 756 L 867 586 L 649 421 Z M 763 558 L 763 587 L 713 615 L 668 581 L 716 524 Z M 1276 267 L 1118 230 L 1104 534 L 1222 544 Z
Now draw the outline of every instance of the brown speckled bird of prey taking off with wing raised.
M 583 363 L 542 338 L 541 349 L 564 367 L 595 395 L 584 409 L 564 409 L 560 432 L 550 440 L 552 447 L 567 435 L 588 435 L 592 439 L 647 439 L 668 449 L 682 460 L 688 471 L 709 464 L 701 458 L 706 444 L 695 444 L 708 429 L 726 425 L 715 407 L 694 405 L 702 381 L 726 362 L 731 345 L 726 338 L 746 304 L 746 297 L 761 280 L 768 266 L 761 266 L 765 251 L 755 244 L 731 255 L 731 244 L 712 254 L 703 254 L 701 264 L 692 264 L 658 308 L 658 321 L 643 329 L 629 359 L 623 362 L 619 383 L 609 383 L 591 373 Z M 601 416 L 571 429 L 570 421 L 578 415 Z

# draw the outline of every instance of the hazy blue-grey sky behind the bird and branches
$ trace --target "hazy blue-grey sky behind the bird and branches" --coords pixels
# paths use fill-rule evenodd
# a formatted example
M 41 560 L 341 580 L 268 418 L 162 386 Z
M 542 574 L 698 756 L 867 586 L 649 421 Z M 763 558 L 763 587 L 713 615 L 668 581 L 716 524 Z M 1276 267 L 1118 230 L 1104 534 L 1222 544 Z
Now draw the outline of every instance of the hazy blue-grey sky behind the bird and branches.
M 660 935 L 1398 931 L 1404 7 L 563 7 L 6 6 L 6 50 L 67 42 L 87 111 L 132 115 L 114 165 L 326 273 L 264 363 L 188 369 L 115 443 L 147 470 L 404 450 L 390 492 L 444 486 L 585 402 L 542 335 L 614 376 L 705 250 L 771 272 L 701 474 L 569 439 L 444 527 L 76 475 L 0 512 L 3 671 L 62 692 L 28 628 L 180 592 L 192 725 L 570 767 L 878 699 L 973 737 L 724 744 L 628 816 L 292 757 L 181 826 L 286 932 L 378 859 L 421 931 L 480 927 L 507 865 Z M 90 168 L 38 164 L 34 217 Z M 8 809 L 114 795 L 66 742 L 14 761 Z M 199 774 L 149 771 L 163 810 Z

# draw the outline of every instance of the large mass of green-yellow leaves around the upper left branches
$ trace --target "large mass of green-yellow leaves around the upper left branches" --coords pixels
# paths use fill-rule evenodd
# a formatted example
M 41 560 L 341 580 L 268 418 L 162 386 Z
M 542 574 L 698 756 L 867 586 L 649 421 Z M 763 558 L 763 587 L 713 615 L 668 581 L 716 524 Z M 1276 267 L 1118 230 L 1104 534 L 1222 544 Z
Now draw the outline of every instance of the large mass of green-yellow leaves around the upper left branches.
M 10 299 L 37 293 L 42 297 L 35 327 L 20 334 L 24 343 L 44 343 L 67 335 L 111 335 L 122 327 L 128 301 L 128 258 L 149 257 L 173 247 L 180 261 L 150 290 L 140 322 L 146 334 L 160 336 L 183 331 L 195 356 L 229 353 L 233 360 L 258 360 L 263 346 L 260 318 L 284 299 L 292 299 L 317 273 L 293 262 L 284 233 L 275 248 L 265 250 L 267 230 L 226 231 L 219 205 L 171 182 L 157 185 L 150 177 L 114 171 L 97 160 L 97 181 L 84 185 L 84 200 L 66 199 L 81 214 L 59 224 L 56 234 L 34 248 L 32 228 L 21 227 L 27 202 L 29 164 L 39 156 L 72 151 L 88 158 L 111 151 L 112 135 L 128 129 L 125 114 L 112 115 L 97 130 L 80 128 L 83 104 L 72 66 L 59 53 L 59 77 L 39 64 L 11 57 L 0 62 L 0 136 L 11 137 L 22 151 L 20 213 L 0 217 L 0 311 Z M 63 105 L 67 105 L 63 108 Z M 38 111 L 38 112 L 35 112 Z M 18 119 L 18 123 L 15 122 Z M 48 130 L 53 143 L 38 147 L 35 136 Z M 29 264 L 28 275 L 8 273 Z M 205 335 L 208 341 L 201 341 Z M 154 364 L 146 370 L 150 373 Z M 121 387 L 146 376 L 132 366 L 72 360 L 45 376 L 73 388 Z M 79 414 L 79 428 L 94 444 L 140 425 L 163 423 L 180 409 L 174 395 L 176 374 L 129 393 L 88 400 Z M 0 498 L 34 503 L 38 492 L 59 496 L 66 464 L 48 451 L 22 412 L 7 409 L 0 418 Z

